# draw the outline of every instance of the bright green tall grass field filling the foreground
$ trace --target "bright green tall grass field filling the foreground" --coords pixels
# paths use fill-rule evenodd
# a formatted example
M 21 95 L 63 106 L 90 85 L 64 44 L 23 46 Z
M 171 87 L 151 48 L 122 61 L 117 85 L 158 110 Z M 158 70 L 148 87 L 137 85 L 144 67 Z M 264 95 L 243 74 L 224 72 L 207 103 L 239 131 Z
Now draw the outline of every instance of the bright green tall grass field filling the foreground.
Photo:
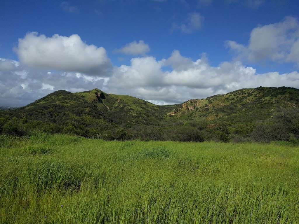
M 299 223 L 299 148 L 0 135 L 0 223 Z

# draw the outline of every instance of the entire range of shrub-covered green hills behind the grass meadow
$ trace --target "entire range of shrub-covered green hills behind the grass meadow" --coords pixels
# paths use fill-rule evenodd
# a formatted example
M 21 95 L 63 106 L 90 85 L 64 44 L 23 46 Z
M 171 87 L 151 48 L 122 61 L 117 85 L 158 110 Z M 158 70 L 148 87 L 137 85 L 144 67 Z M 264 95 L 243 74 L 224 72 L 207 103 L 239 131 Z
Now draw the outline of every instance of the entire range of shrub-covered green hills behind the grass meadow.
M 12 127 L 18 129 L 18 122 L 21 122 L 25 125 L 24 130 L 37 127 L 50 133 L 106 139 L 124 139 L 126 136 L 129 139 L 201 141 L 216 136 L 216 139 L 228 141 L 235 134 L 248 136 L 261 122 L 277 123 L 277 116 L 280 120 L 286 117 L 281 116 L 281 110 L 285 109 L 291 111 L 287 116 L 292 124 L 283 121 L 285 133 L 271 134 L 268 139 L 276 139 L 275 136 L 288 139 L 290 127 L 299 128 L 296 123 L 298 108 L 299 90 L 288 87 L 240 89 L 166 106 L 132 96 L 105 93 L 97 88 L 79 93 L 59 90 L 25 107 L 1 110 L 0 131 L 15 133 Z M 284 130 L 275 128 L 280 129 Z M 299 131 L 292 133 L 299 136 Z

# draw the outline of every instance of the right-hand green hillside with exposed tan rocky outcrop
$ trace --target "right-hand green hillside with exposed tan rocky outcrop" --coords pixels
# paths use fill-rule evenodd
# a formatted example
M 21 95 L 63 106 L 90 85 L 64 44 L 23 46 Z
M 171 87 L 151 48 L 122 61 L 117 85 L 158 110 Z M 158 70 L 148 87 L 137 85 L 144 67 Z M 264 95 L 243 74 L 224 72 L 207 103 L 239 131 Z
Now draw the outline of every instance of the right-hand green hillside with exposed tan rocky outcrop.
M 202 119 L 210 122 L 255 122 L 273 116 L 277 108 L 298 108 L 299 90 L 288 87 L 240 89 L 206 99 L 188 100 L 167 116 L 176 119 Z

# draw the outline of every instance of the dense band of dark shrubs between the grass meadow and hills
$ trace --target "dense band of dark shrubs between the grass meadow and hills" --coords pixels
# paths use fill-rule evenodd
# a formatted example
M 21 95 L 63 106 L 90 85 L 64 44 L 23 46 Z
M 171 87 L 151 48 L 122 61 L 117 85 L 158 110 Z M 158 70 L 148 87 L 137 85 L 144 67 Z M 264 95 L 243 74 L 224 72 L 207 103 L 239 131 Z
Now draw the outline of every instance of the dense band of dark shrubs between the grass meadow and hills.
M 298 144 L 298 108 L 280 108 L 271 119 L 256 123 L 208 122 L 206 119 L 176 121 L 160 125 L 120 125 L 115 128 L 86 127 L 76 120 L 65 125 L 54 122 L 0 116 L 0 132 L 16 136 L 30 136 L 40 131 L 48 134 L 64 133 L 104 140 L 173 140 L 182 142 L 271 142 L 290 141 Z

